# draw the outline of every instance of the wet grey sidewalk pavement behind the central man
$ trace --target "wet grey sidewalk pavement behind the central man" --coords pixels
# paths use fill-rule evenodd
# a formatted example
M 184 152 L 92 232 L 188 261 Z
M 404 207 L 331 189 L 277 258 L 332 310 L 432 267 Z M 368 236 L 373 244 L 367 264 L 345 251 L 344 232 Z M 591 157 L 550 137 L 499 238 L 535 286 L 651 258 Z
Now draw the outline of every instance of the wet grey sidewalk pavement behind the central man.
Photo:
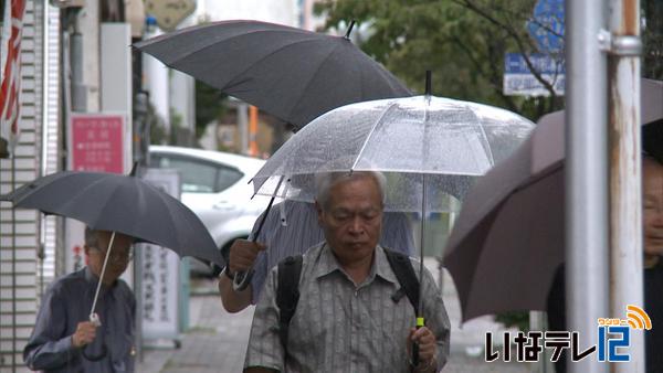
M 427 267 L 436 278 L 434 260 Z M 503 328 L 491 317 L 472 320 L 459 328 L 461 309 L 453 280 L 444 276 L 443 298 L 451 319 L 451 356 L 443 372 L 449 373 L 525 373 L 526 363 L 484 362 L 485 332 L 501 333 Z M 230 315 L 221 307 L 215 283 L 200 280 L 192 284 L 199 295 L 190 301 L 191 330 L 182 338 L 177 350 L 146 350 L 137 372 L 146 373 L 234 373 L 241 372 L 249 341 L 253 307 Z M 470 353 L 469 353 L 470 352 Z M 472 355 L 470 355 L 472 354 Z

